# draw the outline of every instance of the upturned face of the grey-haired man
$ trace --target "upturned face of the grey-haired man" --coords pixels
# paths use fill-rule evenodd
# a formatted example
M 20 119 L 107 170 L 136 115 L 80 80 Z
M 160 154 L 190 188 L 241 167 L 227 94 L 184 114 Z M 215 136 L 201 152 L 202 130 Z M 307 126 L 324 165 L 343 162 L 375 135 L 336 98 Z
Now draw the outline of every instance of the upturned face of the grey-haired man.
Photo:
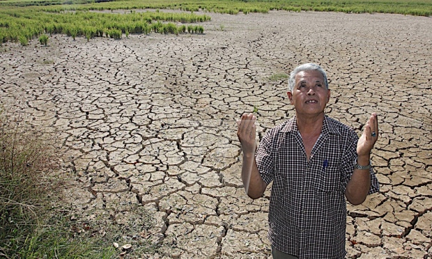
M 325 88 L 323 75 L 316 71 L 302 71 L 295 75 L 293 93 L 288 92 L 289 100 L 298 115 L 318 115 L 324 113 L 330 99 L 330 90 Z

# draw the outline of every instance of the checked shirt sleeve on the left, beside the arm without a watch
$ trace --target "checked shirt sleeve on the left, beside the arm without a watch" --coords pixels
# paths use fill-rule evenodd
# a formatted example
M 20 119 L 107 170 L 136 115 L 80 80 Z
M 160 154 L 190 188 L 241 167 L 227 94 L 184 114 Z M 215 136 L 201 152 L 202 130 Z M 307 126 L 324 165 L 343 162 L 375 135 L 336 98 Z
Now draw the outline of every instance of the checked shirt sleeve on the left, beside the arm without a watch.
M 271 131 L 270 131 L 271 132 Z M 270 132 L 267 132 L 256 150 L 255 161 L 258 167 L 259 174 L 263 178 L 266 185 L 270 184 L 274 178 L 273 154 L 272 154 L 272 137 Z

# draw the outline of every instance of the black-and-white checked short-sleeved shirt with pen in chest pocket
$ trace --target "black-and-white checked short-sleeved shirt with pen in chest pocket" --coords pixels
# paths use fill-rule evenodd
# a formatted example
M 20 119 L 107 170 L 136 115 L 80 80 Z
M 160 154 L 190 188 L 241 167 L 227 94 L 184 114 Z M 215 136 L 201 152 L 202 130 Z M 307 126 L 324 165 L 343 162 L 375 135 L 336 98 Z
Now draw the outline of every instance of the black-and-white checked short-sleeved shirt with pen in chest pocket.
M 294 118 L 270 130 L 256 152 L 261 178 L 273 181 L 268 237 L 298 258 L 344 258 L 345 189 L 353 175 L 358 136 L 325 116 L 309 162 Z M 373 169 L 369 194 L 379 191 Z

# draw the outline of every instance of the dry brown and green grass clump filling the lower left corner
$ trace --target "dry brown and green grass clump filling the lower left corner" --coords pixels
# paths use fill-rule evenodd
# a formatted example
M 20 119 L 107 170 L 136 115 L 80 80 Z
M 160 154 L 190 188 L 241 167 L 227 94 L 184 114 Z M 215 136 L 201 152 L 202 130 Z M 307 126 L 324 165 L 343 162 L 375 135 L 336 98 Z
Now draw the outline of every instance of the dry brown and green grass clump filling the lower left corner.
M 19 112 L 0 109 L 0 258 L 114 258 L 98 239 L 74 235 L 55 206 L 54 148 L 26 127 Z

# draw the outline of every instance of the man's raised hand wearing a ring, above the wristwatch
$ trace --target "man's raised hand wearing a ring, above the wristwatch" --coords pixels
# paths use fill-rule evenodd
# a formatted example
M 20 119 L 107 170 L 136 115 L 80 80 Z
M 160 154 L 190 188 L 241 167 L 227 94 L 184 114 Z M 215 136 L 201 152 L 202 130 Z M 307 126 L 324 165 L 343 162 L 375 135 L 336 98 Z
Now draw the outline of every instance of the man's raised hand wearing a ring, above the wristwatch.
M 363 134 L 357 142 L 357 155 L 369 156 L 373 146 L 378 140 L 378 116 L 372 113 L 363 128 Z

